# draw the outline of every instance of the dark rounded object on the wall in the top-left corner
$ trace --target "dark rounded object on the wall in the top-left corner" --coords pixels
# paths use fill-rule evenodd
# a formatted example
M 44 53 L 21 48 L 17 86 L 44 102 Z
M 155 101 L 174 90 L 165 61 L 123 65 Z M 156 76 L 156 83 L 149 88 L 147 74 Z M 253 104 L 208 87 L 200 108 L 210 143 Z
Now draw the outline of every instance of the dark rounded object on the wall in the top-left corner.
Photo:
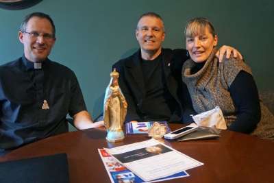
M 0 0 L 0 8 L 7 10 L 22 10 L 36 5 L 42 0 Z

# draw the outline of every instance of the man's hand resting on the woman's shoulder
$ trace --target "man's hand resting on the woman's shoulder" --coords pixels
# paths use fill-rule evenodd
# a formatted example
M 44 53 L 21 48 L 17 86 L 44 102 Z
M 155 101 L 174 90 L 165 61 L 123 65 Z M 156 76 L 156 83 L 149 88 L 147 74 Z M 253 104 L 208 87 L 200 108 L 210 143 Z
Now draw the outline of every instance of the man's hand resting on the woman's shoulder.
M 223 56 L 225 55 L 225 53 L 227 59 L 230 58 L 231 54 L 233 54 L 234 58 L 242 60 L 242 55 L 237 49 L 234 49 L 234 47 L 223 45 L 215 54 L 215 56 L 219 58 L 219 62 L 223 62 Z

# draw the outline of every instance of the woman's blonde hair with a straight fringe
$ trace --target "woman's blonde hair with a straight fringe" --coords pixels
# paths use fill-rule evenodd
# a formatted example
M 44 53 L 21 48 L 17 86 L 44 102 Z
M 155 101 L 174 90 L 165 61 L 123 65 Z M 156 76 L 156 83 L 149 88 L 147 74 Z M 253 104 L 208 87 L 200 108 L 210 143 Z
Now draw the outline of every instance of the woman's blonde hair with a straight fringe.
M 215 36 L 215 29 L 210 23 L 210 21 L 203 17 L 197 17 L 194 19 L 190 19 L 188 23 L 186 23 L 186 27 L 184 29 L 184 36 L 187 37 L 193 37 L 198 34 L 206 32 L 206 27 L 208 27 L 208 30 L 212 36 Z

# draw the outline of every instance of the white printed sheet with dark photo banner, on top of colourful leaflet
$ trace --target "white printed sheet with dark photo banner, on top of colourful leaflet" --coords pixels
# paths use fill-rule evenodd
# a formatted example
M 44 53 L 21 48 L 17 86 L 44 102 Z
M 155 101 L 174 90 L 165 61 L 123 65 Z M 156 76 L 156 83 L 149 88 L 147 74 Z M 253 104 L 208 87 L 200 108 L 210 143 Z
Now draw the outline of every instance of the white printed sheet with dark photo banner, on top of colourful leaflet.
M 140 143 L 104 149 L 146 182 L 203 165 L 202 162 L 190 158 L 153 138 Z

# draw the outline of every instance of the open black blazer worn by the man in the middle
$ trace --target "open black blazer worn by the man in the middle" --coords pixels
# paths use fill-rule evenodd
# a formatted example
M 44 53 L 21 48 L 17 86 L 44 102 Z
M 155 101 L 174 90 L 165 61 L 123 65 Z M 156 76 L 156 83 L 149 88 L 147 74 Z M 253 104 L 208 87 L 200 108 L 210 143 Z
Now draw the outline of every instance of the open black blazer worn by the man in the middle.
M 186 50 L 162 49 L 162 58 L 166 86 L 171 96 L 175 99 L 175 110 L 169 121 L 181 121 L 182 99 L 184 97 L 181 72 L 182 64 L 188 58 Z M 149 120 L 149 117 L 140 112 L 142 111 L 142 101 L 145 98 L 145 83 L 140 62 L 141 53 L 139 49 L 132 56 L 119 60 L 112 66 L 112 69 L 115 68 L 120 73 L 119 86 L 128 104 L 125 122 Z

